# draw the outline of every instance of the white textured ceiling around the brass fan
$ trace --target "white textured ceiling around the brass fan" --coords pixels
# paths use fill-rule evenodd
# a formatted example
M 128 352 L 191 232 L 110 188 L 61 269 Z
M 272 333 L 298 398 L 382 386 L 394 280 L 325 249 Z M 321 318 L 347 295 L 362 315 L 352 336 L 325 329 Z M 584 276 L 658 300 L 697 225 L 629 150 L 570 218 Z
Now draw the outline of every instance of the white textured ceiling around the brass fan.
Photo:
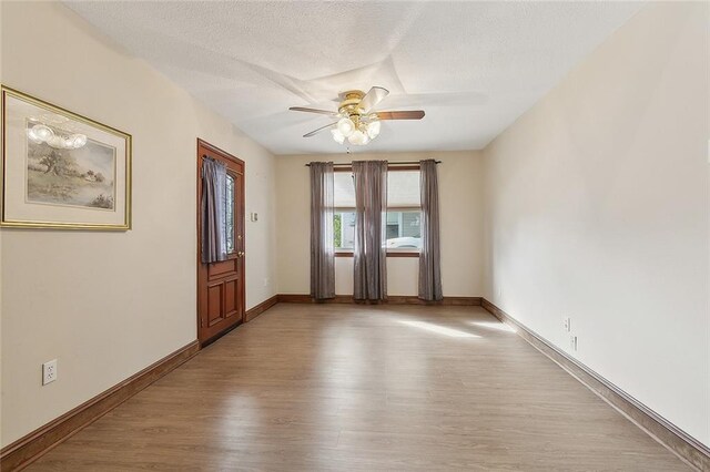
M 140 2 L 68 6 L 275 154 L 343 152 L 338 92 L 390 95 L 386 122 L 353 151 L 476 150 L 510 125 L 639 2 Z

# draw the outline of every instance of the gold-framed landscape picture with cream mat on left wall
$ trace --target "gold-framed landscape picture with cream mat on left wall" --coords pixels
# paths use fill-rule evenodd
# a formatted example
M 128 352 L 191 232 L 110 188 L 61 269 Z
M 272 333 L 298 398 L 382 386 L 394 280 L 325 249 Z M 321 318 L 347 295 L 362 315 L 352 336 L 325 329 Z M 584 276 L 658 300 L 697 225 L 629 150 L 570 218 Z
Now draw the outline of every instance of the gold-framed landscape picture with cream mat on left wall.
M 131 228 L 131 135 L 2 86 L 0 226 Z

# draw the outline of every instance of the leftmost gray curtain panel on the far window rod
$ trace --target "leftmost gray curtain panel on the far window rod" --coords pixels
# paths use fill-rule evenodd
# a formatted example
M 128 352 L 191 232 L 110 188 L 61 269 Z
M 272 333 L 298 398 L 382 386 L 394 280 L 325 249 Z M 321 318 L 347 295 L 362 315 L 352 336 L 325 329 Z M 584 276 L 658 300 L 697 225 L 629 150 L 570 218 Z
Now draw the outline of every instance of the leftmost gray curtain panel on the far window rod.
M 311 296 L 335 297 L 335 185 L 332 162 L 311 163 Z

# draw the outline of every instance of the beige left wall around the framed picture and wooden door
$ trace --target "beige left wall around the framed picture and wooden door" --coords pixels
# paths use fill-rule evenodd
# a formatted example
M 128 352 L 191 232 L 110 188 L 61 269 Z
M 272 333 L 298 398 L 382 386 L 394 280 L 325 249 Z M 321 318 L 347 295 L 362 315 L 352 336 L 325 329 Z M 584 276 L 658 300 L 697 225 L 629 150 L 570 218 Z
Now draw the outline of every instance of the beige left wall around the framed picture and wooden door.
M 274 158 L 229 122 L 61 3 L 1 12 L 4 84 L 133 135 L 133 230 L 0 232 L 6 445 L 195 339 L 196 137 L 246 161 L 247 307 L 275 294 L 275 215 Z

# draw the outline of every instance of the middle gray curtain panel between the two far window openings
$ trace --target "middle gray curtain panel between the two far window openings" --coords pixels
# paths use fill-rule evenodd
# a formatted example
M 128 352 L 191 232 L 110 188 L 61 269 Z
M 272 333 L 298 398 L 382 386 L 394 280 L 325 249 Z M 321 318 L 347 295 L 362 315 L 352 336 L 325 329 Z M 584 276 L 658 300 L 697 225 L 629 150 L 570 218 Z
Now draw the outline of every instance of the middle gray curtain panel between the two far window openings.
M 387 161 L 354 161 L 356 300 L 387 298 Z

